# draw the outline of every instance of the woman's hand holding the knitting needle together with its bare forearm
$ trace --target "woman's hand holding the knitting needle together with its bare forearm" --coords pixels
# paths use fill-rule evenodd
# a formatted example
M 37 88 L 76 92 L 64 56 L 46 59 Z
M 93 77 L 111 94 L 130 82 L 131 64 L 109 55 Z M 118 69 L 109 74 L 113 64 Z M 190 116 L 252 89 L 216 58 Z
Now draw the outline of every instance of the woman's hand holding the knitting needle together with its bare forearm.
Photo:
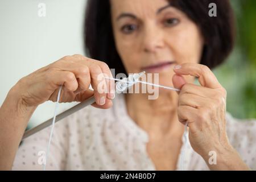
M 21 78 L 0 107 L 0 170 L 11 169 L 32 113 L 39 104 L 56 101 L 61 85 L 60 102 L 82 102 L 94 95 L 93 106 L 102 109 L 112 106 L 114 94 L 110 93 L 114 93 L 115 84 L 103 75 L 112 77 L 104 62 L 73 55 Z M 94 91 L 89 89 L 90 84 Z

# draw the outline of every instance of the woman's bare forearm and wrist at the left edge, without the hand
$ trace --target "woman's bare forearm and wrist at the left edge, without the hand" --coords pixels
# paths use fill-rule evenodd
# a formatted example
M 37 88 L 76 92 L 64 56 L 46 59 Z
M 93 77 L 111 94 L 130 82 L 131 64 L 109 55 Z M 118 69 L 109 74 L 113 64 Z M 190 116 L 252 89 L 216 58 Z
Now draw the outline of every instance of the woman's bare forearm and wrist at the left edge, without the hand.
M 20 139 L 36 109 L 24 104 L 19 90 L 12 88 L 0 108 L 0 170 L 10 170 Z

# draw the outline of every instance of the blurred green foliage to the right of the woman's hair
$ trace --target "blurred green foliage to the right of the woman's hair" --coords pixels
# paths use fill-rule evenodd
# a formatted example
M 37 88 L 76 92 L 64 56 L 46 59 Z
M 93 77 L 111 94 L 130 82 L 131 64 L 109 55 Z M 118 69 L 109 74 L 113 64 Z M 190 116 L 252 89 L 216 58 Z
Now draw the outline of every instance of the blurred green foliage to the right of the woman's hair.
M 227 110 L 237 118 L 256 118 L 256 1 L 230 2 L 237 19 L 236 48 L 214 73 L 228 92 Z

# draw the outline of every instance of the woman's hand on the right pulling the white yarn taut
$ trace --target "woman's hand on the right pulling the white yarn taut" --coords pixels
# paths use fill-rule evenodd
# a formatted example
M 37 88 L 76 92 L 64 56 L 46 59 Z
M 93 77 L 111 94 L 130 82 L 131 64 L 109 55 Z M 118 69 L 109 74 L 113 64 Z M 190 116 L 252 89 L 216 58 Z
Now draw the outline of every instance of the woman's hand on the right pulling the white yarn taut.
M 181 89 L 177 115 L 181 123 L 188 123 L 193 150 L 207 164 L 211 151 L 215 152 L 217 162 L 226 161 L 226 157 L 234 154 L 226 134 L 226 90 L 205 65 L 184 63 L 177 65 L 174 72 L 172 82 Z M 182 75 L 198 77 L 201 86 L 186 83 Z

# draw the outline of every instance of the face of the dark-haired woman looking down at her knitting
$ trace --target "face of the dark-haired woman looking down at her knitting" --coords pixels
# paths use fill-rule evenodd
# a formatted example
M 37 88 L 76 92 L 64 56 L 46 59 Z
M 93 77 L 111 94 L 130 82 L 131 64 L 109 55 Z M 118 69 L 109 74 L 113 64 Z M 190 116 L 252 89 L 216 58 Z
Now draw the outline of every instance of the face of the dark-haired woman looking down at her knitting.
M 110 2 L 115 44 L 128 73 L 159 73 L 159 83 L 171 86 L 175 64 L 199 63 L 199 27 L 166 0 Z

